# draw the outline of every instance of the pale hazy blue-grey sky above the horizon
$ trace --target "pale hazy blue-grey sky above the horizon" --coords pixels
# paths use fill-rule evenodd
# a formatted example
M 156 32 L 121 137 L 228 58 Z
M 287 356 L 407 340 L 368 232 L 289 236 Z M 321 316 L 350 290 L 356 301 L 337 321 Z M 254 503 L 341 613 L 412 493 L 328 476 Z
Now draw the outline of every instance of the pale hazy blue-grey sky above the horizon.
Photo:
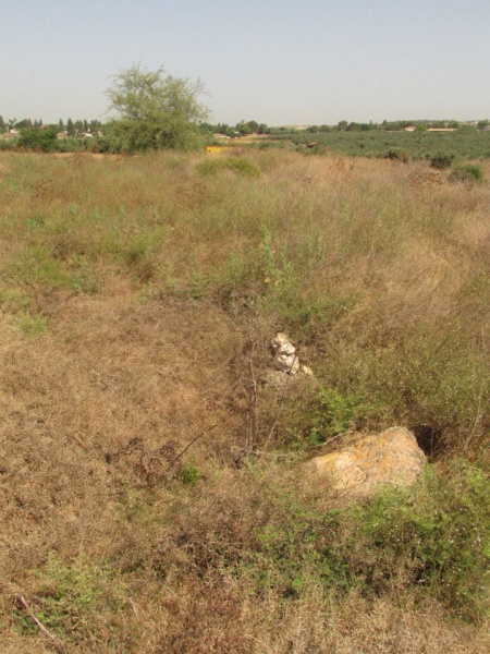
M 133 63 L 216 122 L 490 118 L 490 0 L 0 0 L 0 116 L 102 119 Z

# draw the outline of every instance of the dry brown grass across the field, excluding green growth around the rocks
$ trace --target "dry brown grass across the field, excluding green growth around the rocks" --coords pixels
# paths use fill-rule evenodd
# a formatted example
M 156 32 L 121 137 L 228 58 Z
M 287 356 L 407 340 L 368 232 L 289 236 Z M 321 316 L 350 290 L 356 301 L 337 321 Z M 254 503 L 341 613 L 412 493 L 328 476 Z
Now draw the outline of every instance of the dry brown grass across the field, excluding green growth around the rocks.
M 50 568 L 50 553 L 69 568 L 83 553 L 101 592 L 88 608 L 72 597 L 56 616 L 66 652 L 490 647 L 483 628 L 451 621 L 430 602 L 368 601 L 355 590 L 329 597 L 315 585 L 293 602 L 257 593 L 223 564 L 246 558 L 274 510 L 257 477 L 233 467 L 249 410 L 250 335 L 258 372 L 269 335 L 290 329 L 323 380 L 366 392 L 392 384 L 387 420 L 433 421 L 453 449 L 466 438 L 466 453 L 478 456 L 488 438 L 483 378 L 458 412 L 449 404 L 460 396 L 440 407 L 419 398 L 453 378 L 453 359 L 478 358 L 475 374 L 483 370 L 489 187 L 420 183 L 420 164 L 247 156 L 257 180 L 204 180 L 199 156 L 1 154 L 2 653 L 52 651 L 12 600 L 28 597 L 49 622 L 42 603 L 68 574 Z M 265 225 L 275 269 L 262 262 Z M 317 302 L 322 318 L 302 323 L 296 301 Z M 47 328 L 33 327 L 37 317 Z M 411 367 L 422 337 L 430 356 Z M 419 374 L 428 361 L 432 372 Z M 437 378 L 431 387 L 427 377 Z M 468 385 L 469 372 L 462 379 Z M 189 457 L 195 486 L 180 476 Z M 278 467 L 266 482 L 293 492 L 297 480 Z

